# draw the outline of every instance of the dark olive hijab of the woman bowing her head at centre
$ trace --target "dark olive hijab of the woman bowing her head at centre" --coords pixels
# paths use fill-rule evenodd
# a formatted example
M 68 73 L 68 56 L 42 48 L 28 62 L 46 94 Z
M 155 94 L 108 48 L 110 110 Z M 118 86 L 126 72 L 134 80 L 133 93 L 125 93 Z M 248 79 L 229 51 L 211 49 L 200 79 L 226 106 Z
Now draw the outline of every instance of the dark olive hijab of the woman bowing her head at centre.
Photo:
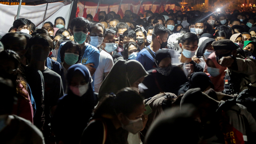
M 99 99 L 105 94 L 116 93 L 122 88 L 131 87 L 134 82 L 147 76 L 148 72 L 142 64 L 136 60 L 118 60 L 105 80 L 102 82 L 99 90 Z

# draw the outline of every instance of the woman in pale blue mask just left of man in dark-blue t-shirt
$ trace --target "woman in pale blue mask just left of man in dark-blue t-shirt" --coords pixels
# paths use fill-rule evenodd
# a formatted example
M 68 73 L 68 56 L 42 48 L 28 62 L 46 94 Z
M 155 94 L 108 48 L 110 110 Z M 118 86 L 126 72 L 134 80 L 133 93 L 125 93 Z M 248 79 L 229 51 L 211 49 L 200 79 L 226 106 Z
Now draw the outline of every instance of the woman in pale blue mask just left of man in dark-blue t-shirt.
M 129 42 L 125 45 L 122 56 L 125 60 L 136 60 L 137 54 L 140 52 L 140 47 L 135 42 Z

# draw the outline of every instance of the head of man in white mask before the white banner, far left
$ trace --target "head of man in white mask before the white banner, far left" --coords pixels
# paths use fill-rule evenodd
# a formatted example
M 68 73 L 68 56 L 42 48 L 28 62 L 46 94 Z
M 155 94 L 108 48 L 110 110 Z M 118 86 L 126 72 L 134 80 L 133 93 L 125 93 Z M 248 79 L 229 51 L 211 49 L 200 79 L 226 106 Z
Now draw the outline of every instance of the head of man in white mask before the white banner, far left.
M 29 22 L 26 18 L 18 18 L 13 22 L 13 27 L 15 32 L 24 32 L 29 34 Z

